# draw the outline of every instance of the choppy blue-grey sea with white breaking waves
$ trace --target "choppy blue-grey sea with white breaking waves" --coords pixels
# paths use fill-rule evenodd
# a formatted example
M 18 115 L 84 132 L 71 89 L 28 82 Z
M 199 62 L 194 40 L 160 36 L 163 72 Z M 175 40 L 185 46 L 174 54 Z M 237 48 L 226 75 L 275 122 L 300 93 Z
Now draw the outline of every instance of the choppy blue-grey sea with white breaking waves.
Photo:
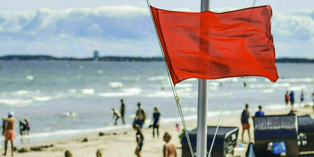
M 279 75 L 276 83 L 263 77 L 233 78 L 224 115 L 239 115 L 240 121 L 246 103 L 251 113 L 259 105 L 264 109 L 284 109 L 284 95 L 292 90 L 295 106 L 300 105 L 302 90 L 306 104 L 313 105 L 314 64 L 276 63 L 276 66 Z M 230 80 L 208 81 L 209 118 L 219 116 Z M 181 97 L 185 120 L 196 120 L 198 79 L 176 84 L 176 91 Z M 114 126 L 112 109 L 120 110 L 121 99 L 127 124 L 122 125 L 120 118 L 119 125 Z M 138 102 L 149 121 L 157 106 L 161 125 L 181 124 L 164 62 L 0 61 L 0 116 L 6 117 L 9 111 L 15 113 L 17 145 L 131 128 Z M 19 120 L 24 118 L 30 121 L 27 140 L 18 135 Z M 1 137 L 2 146 L 3 140 Z

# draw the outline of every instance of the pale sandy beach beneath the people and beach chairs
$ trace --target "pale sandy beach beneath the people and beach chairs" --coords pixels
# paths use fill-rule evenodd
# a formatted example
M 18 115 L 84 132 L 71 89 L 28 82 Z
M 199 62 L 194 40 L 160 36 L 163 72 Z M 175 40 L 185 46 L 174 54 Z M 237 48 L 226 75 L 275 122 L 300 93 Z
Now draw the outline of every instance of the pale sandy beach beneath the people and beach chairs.
M 305 115 L 310 114 L 313 117 L 311 107 L 305 108 L 297 108 L 297 115 Z M 251 109 L 251 115 L 253 115 L 253 109 Z M 289 109 L 286 110 L 264 110 L 265 115 L 276 115 L 276 114 L 287 114 Z M 245 133 L 244 143 L 241 143 L 241 115 L 232 115 L 232 116 L 223 116 L 220 126 L 232 126 L 239 127 L 238 134 L 238 144 L 242 144 L 245 149 L 236 149 L 234 155 L 235 156 L 245 156 L 246 147 L 249 142 L 248 134 Z M 215 126 L 218 122 L 218 117 L 208 119 L 208 125 Z M 178 122 L 179 123 L 179 122 Z M 179 123 L 181 124 L 181 122 Z M 196 121 L 187 122 L 187 128 L 193 129 L 197 126 Z M 252 140 L 254 140 L 254 129 L 252 127 L 253 120 L 250 118 L 251 124 L 251 136 Z M 180 125 L 181 126 L 181 125 Z M 153 138 L 152 129 L 144 128 L 143 130 L 144 136 L 144 144 L 142 149 L 143 156 L 155 156 L 161 157 L 163 145 L 165 142 L 163 141 L 163 134 L 168 132 L 172 135 L 171 142 L 174 143 L 177 147 L 178 156 L 181 156 L 181 143 L 178 138 L 179 133 L 176 131 L 175 124 L 167 124 L 160 126 L 160 137 Z M 84 138 L 87 138 L 87 142 L 82 142 Z M 41 148 L 41 151 L 30 150 L 31 147 L 47 147 Z M 21 150 L 24 148 L 27 152 L 18 153 L 15 151 L 14 156 L 19 157 L 42 157 L 42 156 L 50 156 L 50 157 L 62 157 L 64 156 L 64 152 L 69 150 L 72 152 L 73 156 L 77 157 L 92 157 L 96 156 L 97 149 L 100 149 L 103 156 L 119 156 L 119 157 L 128 157 L 135 156 L 134 151 L 136 147 L 136 138 L 135 131 L 133 129 L 127 130 L 116 130 L 105 133 L 103 136 L 99 136 L 99 133 L 91 133 L 86 135 L 80 135 L 70 138 L 62 138 L 62 139 L 53 139 L 46 140 L 41 142 L 35 142 L 30 144 L 24 144 L 17 146 L 17 150 Z M 3 151 L 3 148 L 1 149 Z M 8 155 L 10 155 L 10 149 L 8 150 Z

